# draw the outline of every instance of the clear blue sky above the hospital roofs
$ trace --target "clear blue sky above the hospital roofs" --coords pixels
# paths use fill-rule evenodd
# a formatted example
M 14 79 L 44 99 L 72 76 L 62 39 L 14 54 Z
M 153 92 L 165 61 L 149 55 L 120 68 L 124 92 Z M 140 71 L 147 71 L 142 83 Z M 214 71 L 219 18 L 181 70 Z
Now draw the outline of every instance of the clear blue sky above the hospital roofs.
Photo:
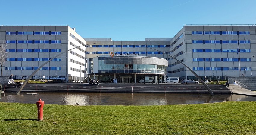
M 0 24 L 67 24 L 83 38 L 173 38 L 185 24 L 255 24 L 255 0 L 0 0 Z M 6 5 L 6 6 L 3 6 Z

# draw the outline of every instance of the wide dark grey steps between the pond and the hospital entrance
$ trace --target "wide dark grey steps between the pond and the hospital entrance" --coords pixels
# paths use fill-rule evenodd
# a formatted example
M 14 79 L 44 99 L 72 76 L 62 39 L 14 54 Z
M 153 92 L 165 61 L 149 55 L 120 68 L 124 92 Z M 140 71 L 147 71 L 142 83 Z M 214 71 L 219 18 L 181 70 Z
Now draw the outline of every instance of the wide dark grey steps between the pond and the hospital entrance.
M 213 93 L 231 93 L 225 85 L 209 84 Z M 18 87 L 19 88 L 19 87 Z M 18 88 L 3 84 L 3 91 Z M 209 93 L 202 84 L 99 84 L 88 83 L 27 83 L 21 92 L 116 92 L 116 93 Z

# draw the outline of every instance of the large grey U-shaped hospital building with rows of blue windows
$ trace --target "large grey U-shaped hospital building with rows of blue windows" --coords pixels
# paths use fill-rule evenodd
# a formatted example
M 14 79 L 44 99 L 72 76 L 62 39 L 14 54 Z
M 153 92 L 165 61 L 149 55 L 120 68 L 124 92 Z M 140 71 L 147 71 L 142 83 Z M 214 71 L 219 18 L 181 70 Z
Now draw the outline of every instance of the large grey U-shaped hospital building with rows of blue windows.
M 168 66 L 163 70 L 166 71 L 166 77 L 196 79 L 187 68 L 168 55 L 182 61 L 203 78 L 225 80 L 229 76 L 256 76 L 256 59 L 253 57 L 256 55 L 255 29 L 255 25 L 185 25 L 173 38 L 112 41 L 111 38 L 82 38 L 69 26 L 0 26 L 0 43 L 6 43 L 9 52 L 3 75 L 12 73 L 16 78 L 29 76 L 49 58 L 84 45 L 51 61 L 33 78 L 42 79 L 45 76 L 47 79 L 65 79 L 67 75 L 71 81 L 80 80 L 81 74 L 84 78 L 89 75 L 93 79 L 100 71 L 103 73 L 99 65 L 95 66 L 95 61 L 112 58 L 110 53 L 115 54 L 113 58 L 148 58 L 151 62 L 148 65 L 157 64 L 154 63 L 155 57 L 157 60 L 165 59 L 168 64 L 159 65 Z M 86 59 L 89 69 L 86 68 Z M 93 61 L 93 67 L 90 61 Z M 131 63 L 119 64 L 128 64 L 129 68 Z M 105 75 L 114 78 L 113 70 L 116 69 L 113 66 L 112 69 L 104 70 Z M 112 73 L 106 73 L 106 70 L 112 70 Z M 116 73 L 131 76 L 130 69 L 128 72 L 121 70 Z M 151 75 L 155 75 L 153 72 L 155 70 Z M 132 74 L 132 82 L 144 76 L 141 73 Z

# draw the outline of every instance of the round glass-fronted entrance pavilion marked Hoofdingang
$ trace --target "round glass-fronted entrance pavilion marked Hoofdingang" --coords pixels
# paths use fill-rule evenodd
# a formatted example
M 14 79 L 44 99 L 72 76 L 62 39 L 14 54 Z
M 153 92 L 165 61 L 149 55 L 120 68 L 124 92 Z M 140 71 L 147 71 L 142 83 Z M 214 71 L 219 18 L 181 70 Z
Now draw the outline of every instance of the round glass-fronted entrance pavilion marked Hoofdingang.
M 140 83 L 145 76 L 164 80 L 167 60 L 155 57 L 101 56 L 88 58 L 90 79 L 99 79 L 101 83 Z M 159 77 L 155 77 L 159 76 Z M 114 81 L 115 82 L 115 81 Z

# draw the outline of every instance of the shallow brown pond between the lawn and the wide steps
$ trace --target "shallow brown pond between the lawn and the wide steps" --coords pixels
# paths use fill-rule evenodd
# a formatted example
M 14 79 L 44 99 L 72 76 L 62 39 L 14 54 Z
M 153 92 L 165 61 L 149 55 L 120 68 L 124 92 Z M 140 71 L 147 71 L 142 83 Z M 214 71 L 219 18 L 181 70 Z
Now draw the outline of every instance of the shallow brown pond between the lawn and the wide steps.
M 1 102 L 18 102 L 35 104 L 41 98 L 45 104 L 62 105 L 168 105 L 201 104 L 222 101 L 256 101 L 256 97 L 219 94 L 159 94 L 159 93 L 39 93 L 29 95 L 21 93 L 2 94 Z

